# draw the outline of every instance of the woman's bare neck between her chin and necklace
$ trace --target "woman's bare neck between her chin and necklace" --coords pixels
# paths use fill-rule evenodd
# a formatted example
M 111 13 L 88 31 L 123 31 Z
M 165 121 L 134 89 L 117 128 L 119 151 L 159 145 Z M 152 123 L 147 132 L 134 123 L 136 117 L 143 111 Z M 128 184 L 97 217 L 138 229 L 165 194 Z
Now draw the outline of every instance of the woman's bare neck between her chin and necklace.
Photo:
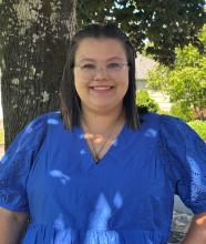
M 122 108 L 106 112 L 93 112 L 84 109 L 82 116 L 93 134 L 105 134 L 111 126 L 117 123 L 124 124 L 125 122 L 125 113 Z

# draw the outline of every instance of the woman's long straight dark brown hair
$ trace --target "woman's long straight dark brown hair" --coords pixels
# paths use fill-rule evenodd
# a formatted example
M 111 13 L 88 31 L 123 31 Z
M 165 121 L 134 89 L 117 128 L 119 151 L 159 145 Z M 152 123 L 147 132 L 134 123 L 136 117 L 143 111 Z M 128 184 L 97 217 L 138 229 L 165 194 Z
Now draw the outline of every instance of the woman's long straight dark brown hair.
M 63 77 L 60 87 L 61 113 L 66 129 L 72 130 L 80 125 L 81 119 L 81 100 L 74 87 L 74 63 L 75 53 L 79 43 L 85 38 L 110 38 L 119 40 L 126 53 L 128 63 L 128 89 L 123 99 L 125 109 L 126 123 L 131 129 L 140 128 L 137 108 L 135 104 L 135 57 L 136 52 L 127 38 L 127 35 L 113 23 L 92 23 L 84 29 L 78 31 L 71 40 L 66 62 L 63 71 Z

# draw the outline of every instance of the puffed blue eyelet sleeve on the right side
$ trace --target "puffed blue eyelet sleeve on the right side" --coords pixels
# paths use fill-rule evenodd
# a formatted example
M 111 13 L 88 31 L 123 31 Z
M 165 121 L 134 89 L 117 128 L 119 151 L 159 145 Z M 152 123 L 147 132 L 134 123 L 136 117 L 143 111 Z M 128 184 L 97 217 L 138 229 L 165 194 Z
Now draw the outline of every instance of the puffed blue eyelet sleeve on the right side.
M 161 116 L 161 143 L 176 194 L 195 214 L 206 212 L 206 143 L 177 118 Z

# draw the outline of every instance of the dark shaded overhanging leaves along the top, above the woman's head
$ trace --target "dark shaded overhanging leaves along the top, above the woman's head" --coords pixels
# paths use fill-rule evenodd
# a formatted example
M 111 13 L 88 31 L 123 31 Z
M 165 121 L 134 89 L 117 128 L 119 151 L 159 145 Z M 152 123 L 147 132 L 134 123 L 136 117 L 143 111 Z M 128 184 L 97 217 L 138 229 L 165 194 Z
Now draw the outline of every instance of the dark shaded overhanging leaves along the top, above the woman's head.
M 115 21 L 128 33 L 136 50 L 145 49 L 145 39 L 152 43 L 146 53 L 165 64 L 175 60 L 175 47 L 189 42 L 200 49 L 197 32 L 206 20 L 204 0 L 78 0 L 79 28 L 93 21 Z

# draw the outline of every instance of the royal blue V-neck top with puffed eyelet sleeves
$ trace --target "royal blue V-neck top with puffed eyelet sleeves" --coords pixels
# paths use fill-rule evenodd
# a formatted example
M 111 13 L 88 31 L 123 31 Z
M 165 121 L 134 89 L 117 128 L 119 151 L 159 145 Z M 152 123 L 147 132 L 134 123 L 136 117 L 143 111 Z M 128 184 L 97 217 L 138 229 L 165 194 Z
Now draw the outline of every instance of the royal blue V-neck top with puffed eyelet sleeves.
M 174 194 L 206 212 L 206 145 L 181 120 L 146 113 L 100 164 L 59 112 L 32 121 L 0 163 L 0 206 L 28 212 L 23 244 L 165 244 Z

